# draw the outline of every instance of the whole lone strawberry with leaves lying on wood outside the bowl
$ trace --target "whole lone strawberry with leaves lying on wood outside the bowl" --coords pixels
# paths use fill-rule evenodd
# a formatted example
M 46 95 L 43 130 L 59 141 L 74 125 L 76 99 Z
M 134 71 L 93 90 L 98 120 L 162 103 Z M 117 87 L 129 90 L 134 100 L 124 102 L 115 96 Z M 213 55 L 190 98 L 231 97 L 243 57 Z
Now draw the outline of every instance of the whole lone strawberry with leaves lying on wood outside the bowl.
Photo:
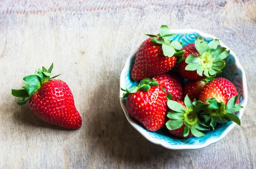
M 59 75 L 50 78 L 52 68 L 53 64 L 48 70 L 43 67 L 36 70 L 35 75 L 24 77 L 24 89 L 12 89 L 12 95 L 21 99 L 17 102 L 19 105 L 29 100 L 30 110 L 41 120 L 79 129 L 82 119 L 76 110 L 73 94 L 65 82 L 53 79 Z

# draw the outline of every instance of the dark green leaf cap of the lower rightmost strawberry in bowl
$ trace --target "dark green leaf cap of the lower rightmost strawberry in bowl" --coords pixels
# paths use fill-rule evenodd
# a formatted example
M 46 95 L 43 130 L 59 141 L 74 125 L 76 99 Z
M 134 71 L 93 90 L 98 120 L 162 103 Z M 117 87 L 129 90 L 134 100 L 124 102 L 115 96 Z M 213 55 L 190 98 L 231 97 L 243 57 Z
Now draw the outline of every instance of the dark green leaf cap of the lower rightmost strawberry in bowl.
M 237 99 L 238 95 L 233 96 L 229 99 L 226 106 L 222 101 L 217 101 L 215 98 L 207 99 L 206 101 L 208 104 L 205 104 L 202 101 L 195 101 L 193 104 L 195 106 L 204 107 L 203 111 L 199 113 L 204 119 L 203 122 L 201 121 L 201 124 L 207 127 L 212 127 L 212 129 L 215 130 L 217 122 L 227 123 L 228 121 L 234 121 L 236 124 L 241 125 L 239 117 L 233 114 L 243 108 L 239 104 L 236 104 Z

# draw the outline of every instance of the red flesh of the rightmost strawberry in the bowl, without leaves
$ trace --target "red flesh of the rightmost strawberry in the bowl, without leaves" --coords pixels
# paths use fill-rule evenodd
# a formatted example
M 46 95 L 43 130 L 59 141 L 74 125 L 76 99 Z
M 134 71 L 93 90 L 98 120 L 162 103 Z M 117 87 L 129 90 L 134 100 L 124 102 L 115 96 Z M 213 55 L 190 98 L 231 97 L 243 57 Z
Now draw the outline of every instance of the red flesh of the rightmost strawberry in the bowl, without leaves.
M 201 90 L 199 100 L 206 103 L 206 99 L 215 98 L 217 101 L 222 101 L 225 106 L 230 98 L 238 95 L 236 87 L 225 78 L 216 78 L 208 82 Z M 237 99 L 236 103 L 239 103 Z

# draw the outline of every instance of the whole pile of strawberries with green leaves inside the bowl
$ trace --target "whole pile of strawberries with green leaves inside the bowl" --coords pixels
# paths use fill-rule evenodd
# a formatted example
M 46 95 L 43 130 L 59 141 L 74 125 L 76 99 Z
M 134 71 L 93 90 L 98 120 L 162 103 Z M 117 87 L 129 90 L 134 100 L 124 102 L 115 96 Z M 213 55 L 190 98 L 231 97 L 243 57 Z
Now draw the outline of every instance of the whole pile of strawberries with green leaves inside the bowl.
M 164 126 L 179 138 L 202 137 L 204 130 L 215 130 L 217 123 L 234 121 L 240 106 L 236 87 L 227 79 L 215 78 L 225 67 L 230 51 L 197 37 L 182 47 L 170 40 L 166 25 L 159 34 L 146 34 L 137 51 L 131 78 L 140 81 L 125 91 L 128 113 L 148 131 Z

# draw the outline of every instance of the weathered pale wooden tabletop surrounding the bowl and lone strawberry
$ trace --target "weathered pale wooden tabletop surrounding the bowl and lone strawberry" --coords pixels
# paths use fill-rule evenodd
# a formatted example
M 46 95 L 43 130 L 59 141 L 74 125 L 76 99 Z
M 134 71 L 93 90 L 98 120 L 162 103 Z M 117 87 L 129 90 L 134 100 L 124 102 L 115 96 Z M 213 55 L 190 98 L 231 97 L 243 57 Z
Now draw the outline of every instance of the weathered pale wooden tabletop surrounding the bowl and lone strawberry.
M 194 28 L 239 57 L 249 100 L 223 140 L 198 150 L 154 145 L 125 118 L 119 75 L 128 55 L 160 25 Z M 256 1 L 0 0 L 0 168 L 256 168 Z M 11 88 L 55 64 L 83 119 L 65 130 L 19 106 Z

